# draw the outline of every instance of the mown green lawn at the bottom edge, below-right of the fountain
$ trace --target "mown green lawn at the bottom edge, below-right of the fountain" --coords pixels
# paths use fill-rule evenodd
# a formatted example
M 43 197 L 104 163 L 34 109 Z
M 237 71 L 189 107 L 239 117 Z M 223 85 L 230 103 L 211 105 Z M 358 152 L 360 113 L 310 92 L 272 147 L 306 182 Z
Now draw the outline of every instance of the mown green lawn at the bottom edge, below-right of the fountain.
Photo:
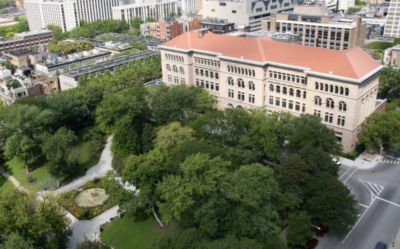
M 100 233 L 101 241 L 109 244 L 115 249 L 145 249 L 151 241 L 164 234 L 181 230 L 177 222 L 172 222 L 168 228 L 157 230 L 154 225 L 157 223 L 154 216 L 144 216 L 134 221 L 131 217 L 124 216 L 117 218 L 105 225 Z

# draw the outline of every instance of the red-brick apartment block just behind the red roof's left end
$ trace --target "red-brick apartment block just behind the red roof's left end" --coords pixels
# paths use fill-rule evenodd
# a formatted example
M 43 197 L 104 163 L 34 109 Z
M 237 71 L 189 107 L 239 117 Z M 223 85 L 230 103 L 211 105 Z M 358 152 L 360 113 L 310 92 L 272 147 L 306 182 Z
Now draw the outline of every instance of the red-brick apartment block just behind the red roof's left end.
M 155 26 L 156 38 L 169 40 L 183 33 L 183 24 L 176 17 L 166 17 Z

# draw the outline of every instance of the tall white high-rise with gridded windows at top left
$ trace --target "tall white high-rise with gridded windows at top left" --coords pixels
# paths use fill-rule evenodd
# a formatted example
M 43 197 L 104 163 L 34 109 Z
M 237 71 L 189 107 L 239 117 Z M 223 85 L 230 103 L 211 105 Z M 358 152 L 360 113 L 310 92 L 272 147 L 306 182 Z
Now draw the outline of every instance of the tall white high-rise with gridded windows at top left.
M 62 31 L 88 22 L 111 19 L 111 7 L 118 0 L 26 0 L 25 9 L 30 30 L 40 30 L 48 24 L 60 26 Z

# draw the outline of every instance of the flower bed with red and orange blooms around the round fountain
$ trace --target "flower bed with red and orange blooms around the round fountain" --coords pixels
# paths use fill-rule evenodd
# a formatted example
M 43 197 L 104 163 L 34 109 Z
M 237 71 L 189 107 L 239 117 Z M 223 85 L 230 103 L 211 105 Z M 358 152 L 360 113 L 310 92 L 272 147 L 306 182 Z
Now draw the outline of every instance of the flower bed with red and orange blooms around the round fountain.
M 93 180 L 84 183 L 81 186 L 76 187 L 75 190 L 71 190 L 69 192 L 61 194 L 60 195 L 61 206 L 65 208 L 68 212 L 70 212 L 73 216 L 75 216 L 77 219 L 89 220 L 116 205 L 116 203 L 112 203 L 109 202 L 108 200 L 105 200 L 102 204 L 93 207 L 79 206 L 76 203 L 76 197 L 80 192 L 90 188 L 102 188 L 101 180 L 95 178 Z

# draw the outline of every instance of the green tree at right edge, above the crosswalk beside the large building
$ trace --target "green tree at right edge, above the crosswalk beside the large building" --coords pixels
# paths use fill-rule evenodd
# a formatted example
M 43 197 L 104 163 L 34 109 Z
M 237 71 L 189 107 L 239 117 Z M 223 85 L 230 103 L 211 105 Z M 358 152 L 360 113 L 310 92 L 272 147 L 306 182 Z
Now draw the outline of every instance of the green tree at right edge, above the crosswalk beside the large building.
M 400 146 L 400 112 L 398 110 L 374 111 L 362 124 L 359 142 L 366 148 L 377 147 L 382 142 L 388 142 L 391 147 Z

